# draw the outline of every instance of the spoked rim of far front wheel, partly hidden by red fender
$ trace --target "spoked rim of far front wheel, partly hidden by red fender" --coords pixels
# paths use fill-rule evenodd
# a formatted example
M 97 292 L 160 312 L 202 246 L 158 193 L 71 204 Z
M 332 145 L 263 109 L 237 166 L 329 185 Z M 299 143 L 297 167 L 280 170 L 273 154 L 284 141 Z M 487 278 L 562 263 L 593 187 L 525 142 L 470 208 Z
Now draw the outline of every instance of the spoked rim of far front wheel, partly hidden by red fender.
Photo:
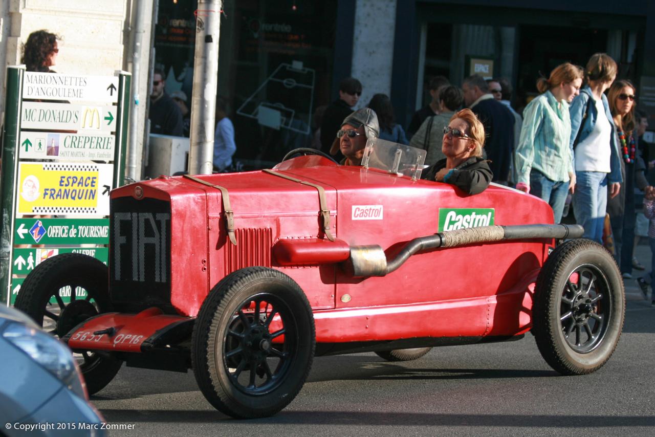
M 70 294 L 69 302 L 64 297 Z M 43 309 L 43 330 L 55 337 L 64 337 L 71 329 L 89 317 L 99 314 L 98 302 L 92 292 L 75 281 L 69 281 L 50 294 Z M 73 351 L 81 370 L 98 365 L 100 355 L 92 351 Z

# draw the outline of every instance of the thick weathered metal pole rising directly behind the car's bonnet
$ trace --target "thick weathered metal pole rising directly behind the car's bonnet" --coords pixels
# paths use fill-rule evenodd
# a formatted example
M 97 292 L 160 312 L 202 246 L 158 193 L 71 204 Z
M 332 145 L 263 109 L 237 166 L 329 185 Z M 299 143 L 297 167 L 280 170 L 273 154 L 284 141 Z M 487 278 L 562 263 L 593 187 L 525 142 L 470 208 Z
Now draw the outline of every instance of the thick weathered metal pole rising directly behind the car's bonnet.
M 211 174 L 218 81 L 221 1 L 198 0 L 191 98 L 189 174 Z

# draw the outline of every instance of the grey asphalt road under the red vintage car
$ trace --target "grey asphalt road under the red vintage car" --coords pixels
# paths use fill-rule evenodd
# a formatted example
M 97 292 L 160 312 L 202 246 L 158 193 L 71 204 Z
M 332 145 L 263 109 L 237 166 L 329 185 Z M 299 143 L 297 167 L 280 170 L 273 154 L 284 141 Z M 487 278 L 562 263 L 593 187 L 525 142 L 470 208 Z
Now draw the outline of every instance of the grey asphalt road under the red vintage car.
M 402 364 L 372 353 L 316 358 L 300 394 L 267 419 L 215 411 L 191 372 L 123 367 L 92 402 L 109 423 L 134 424 L 112 436 L 652 436 L 655 308 L 633 283 L 618 348 L 591 375 L 559 376 L 528 334 Z

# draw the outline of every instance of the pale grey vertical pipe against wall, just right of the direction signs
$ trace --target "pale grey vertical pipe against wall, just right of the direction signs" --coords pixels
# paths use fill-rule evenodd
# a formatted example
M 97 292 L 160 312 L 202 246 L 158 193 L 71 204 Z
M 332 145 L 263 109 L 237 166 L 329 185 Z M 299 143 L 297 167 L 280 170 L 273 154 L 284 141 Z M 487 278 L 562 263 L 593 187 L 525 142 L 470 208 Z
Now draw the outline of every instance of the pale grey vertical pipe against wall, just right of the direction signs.
M 132 114 L 130 116 L 130 134 L 129 134 L 129 147 L 130 154 L 127 160 L 127 176 L 132 180 L 140 178 L 140 172 L 137 172 L 136 162 L 138 161 L 139 151 L 137 150 L 137 138 L 141 132 L 137 128 L 139 125 L 139 77 L 141 69 L 141 39 L 145 33 L 143 23 L 145 20 L 145 0 L 137 0 L 136 3 L 136 16 L 134 17 L 134 51 L 132 52 L 132 90 L 134 90 L 134 98 L 132 98 L 130 105 L 134 104 Z M 147 98 L 147 96 L 145 96 Z

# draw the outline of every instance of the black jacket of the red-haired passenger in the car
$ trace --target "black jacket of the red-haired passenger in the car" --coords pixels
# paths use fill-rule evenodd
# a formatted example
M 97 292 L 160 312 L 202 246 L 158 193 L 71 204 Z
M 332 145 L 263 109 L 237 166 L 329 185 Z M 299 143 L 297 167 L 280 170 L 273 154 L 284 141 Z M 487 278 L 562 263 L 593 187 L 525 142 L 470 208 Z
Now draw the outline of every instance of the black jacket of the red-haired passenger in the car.
M 423 170 L 421 179 L 434 181 L 439 170 L 445 167 L 446 159 L 441 159 L 441 161 L 437 161 L 436 164 Z M 470 157 L 453 168 L 446 176 L 447 178 L 443 180 L 444 182 L 452 183 L 467 194 L 478 194 L 489 187 L 493 173 L 485 159 L 482 157 Z

